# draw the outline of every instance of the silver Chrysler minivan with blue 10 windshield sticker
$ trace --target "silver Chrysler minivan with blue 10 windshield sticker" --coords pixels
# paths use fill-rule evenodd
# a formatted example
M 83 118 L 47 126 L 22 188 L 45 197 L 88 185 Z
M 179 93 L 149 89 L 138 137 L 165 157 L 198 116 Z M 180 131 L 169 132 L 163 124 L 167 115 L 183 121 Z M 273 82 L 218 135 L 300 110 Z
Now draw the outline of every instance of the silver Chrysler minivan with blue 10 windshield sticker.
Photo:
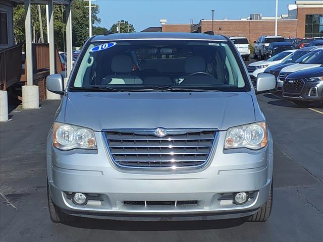
M 260 74 L 257 91 L 275 88 Z M 83 46 L 47 138 L 53 222 L 266 221 L 273 140 L 229 38 L 197 33 L 94 36 Z

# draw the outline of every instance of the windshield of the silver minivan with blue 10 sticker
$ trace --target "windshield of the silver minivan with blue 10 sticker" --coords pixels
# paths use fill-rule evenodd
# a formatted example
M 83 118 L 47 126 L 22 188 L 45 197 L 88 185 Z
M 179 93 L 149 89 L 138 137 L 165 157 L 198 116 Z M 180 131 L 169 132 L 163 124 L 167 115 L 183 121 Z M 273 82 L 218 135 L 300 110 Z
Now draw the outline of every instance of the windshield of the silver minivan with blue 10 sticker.
M 76 67 L 70 89 L 89 90 L 99 86 L 106 91 L 112 91 L 112 88 L 114 91 L 129 91 L 160 90 L 159 87 L 167 86 L 177 90 L 250 90 L 237 59 L 227 41 L 123 40 L 91 43 Z

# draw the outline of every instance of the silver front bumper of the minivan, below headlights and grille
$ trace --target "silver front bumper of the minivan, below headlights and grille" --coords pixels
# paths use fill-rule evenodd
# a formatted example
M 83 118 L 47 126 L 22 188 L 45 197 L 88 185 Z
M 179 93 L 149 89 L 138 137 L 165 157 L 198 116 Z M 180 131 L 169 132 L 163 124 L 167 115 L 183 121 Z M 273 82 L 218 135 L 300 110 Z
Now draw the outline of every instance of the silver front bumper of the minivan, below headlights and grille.
M 113 165 L 100 132 L 98 150 L 47 150 L 49 189 L 53 202 L 77 216 L 126 220 L 194 220 L 248 216 L 266 202 L 273 174 L 273 148 L 223 150 L 219 132 L 208 165 L 174 172 L 124 170 Z M 50 135 L 49 135 L 50 136 Z M 255 191 L 243 205 L 218 200 L 227 193 Z M 76 205 L 66 192 L 99 194 L 102 201 Z M 191 205 L 126 205 L 124 201 L 197 201 Z

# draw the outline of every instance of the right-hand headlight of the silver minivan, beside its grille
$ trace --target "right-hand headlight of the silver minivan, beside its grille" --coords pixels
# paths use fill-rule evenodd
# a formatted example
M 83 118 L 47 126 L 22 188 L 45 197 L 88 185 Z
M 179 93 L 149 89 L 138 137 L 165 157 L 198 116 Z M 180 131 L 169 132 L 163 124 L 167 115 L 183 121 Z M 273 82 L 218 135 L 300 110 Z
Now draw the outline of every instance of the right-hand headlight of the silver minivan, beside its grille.
M 228 129 L 224 148 L 248 148 L 258 150 L 266 146 L 266 144 L 266 123 L 258 122 Z

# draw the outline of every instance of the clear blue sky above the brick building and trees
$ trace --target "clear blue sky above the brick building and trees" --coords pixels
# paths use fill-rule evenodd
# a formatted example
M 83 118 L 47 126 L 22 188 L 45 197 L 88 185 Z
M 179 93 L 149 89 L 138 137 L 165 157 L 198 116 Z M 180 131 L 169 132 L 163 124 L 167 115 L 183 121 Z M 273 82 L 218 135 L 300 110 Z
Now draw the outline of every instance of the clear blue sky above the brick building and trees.
M 278 14 L 287 14 L 287 5 L 295 4 L 295 0 L 279 0 Z M 201 19 L 240 19 L 251 13 L 262 16 L 275 16 L 275 0 L 226 0 L 226 1 L 158 1 L 158 0 L 96 0 L 93 4 L 100 7 L 100 26 L 109 29 L 118 20 L 126 20 L 133 24 L 137 32 L 160 26 L 159 19 L 167 19 L 168 23 L 189 23 L 190 19 L 198 23 Z

